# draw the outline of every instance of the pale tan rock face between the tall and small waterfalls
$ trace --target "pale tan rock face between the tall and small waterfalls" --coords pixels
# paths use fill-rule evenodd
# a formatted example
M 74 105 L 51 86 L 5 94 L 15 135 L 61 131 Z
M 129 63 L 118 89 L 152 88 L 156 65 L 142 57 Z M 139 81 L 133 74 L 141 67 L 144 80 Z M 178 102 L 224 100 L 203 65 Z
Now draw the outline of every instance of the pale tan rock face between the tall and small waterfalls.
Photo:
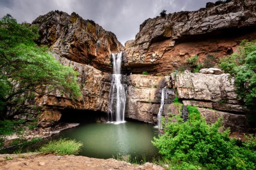
M 128 76 L 126 117 L 143 122 L 157 122 L 159 103 L 161 101 L 161 88 L 167 84 L 168 76 L 130 75 Z M 170 103 L 174 99 L 174 92 L 169 89 L 168 99 Z

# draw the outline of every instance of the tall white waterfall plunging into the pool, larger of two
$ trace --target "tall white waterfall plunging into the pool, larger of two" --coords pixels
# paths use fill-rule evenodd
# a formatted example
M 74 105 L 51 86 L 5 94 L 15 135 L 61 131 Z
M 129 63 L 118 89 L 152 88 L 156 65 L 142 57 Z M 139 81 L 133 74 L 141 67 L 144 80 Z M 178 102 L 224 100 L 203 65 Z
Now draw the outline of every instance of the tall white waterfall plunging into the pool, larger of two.
M 118 54 L 111 54 L 113 60 L 112 83 L 109 92 L 109 122 L 116 120 L 116 123 L 124 121 L 127 85 L 123 85 L 121 75 L 122 51 Z M 114 119 L 116 116 L 116 119 Z

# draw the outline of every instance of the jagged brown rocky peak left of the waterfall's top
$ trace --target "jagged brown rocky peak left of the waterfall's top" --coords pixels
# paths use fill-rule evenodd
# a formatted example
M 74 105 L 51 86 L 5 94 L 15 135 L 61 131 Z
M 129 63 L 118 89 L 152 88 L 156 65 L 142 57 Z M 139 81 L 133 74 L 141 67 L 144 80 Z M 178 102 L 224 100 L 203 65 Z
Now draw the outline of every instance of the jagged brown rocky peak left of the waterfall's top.
M 49 46 L 62 57 L 104 71 L 112 71 L 111 53 L 123 50 L 115 34 L 76 13 L 51 11 L 37 17 L 32 24 L 39 27 L 38 44 Z

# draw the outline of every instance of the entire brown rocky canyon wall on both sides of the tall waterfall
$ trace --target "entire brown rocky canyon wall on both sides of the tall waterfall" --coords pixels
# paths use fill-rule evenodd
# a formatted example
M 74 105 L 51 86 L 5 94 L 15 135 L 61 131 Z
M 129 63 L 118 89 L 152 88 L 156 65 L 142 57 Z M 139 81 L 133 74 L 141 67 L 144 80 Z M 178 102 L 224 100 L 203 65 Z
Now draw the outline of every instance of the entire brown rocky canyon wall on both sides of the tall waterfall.
M 200 107 L 201 115 L 209 123 L 223 116 L 224 126 L 230 126 L 232 131 L 249 131 L 246 110 L 235 93 L 234 78 L 228 74 L 189 71 L 183 74 L 179 69 L 186 67 L 186 58 L 195 55 L 200 63 L 208 54 L 213 55 L 215 64 L 236 51 L 243 39 L 256 39 L 255 9 L 253 0 L 233 0 L 197 11 L 147 19 L 140 25 L 135 40 L 127 41 L 125 48 L 113 33 L 75 13 L 52 11 L 39 16 L 32 23 L 39 27 L 37 43 L 49 46 L 60 63 L 78 71 L 82 93 L 77 100 L 68 99 L 58 91 L 37 96 L 35 104 L 41 108 L 39 124 L 52 125 L 64 109 L 108 113 L 111 53 L 125 50 L 123 83 L 128 85 L 127 118 L 156 123 L 161 88 L 166 87 L 168 99 L 163 116 L 180 112 L 181 106 L 173 104 L 178 97 L 183 105 Z M 141 75 L 143 71 L 150 75 Z

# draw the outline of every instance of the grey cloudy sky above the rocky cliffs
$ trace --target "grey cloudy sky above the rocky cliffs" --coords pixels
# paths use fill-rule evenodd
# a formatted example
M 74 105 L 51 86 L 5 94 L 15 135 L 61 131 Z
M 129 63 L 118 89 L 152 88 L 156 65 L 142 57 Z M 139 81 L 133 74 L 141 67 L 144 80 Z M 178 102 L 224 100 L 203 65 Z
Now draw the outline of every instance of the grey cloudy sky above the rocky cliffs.
M 124 44 L 135 38 L 140 24 L 154 18 L 161 10 L 166 13 L 198 10 L 216 0 L 0 0 L 0 17 L 11 14 L 19 23 L 31 23 L 51 10 L 75 12 L 84 19 L 94 20 L 105 30 L 116 34 Z

